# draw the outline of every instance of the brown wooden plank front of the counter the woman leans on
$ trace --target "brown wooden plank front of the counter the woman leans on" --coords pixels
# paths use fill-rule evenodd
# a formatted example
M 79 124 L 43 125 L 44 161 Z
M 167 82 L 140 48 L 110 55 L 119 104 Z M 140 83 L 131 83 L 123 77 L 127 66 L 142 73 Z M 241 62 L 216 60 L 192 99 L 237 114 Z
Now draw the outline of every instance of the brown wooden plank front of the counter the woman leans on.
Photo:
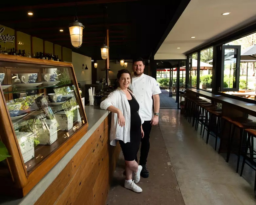
M 63 170 L 37 200 L 36 205 L 105 204 L 120 152 L 119 144 L 109 144 L 110 124 L 106 124 L 111 122 L 109 116 L 72 158 L 64 169 L 66 171 Z M 65 173 L 68 172 L 73 174 L 67 181 Z

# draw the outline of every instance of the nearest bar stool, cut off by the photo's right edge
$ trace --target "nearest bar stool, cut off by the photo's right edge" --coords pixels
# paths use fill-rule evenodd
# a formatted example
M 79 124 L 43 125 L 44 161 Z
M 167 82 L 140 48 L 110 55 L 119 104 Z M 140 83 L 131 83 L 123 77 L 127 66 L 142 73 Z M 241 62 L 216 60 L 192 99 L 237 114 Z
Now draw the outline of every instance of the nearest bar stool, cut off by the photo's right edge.
M 245 129 L 245 131 L 248 133 L 248 138 L 246 141 L 246 148 L 245 148 L 246 151 L 243 154 L 244 158 L 243 158 L 240 176 L 242 176 L 242 174 L 243 174 L 243 170 L 244 170 L 245 163 L 246 163 L 249 167 L 251 167 L 255 171 L 254 191 L 256 191 L 256 169 L 248 161 L 246 161 L 246 157 L 248 157 L 247 155 L 249 155 L 249 159 L 251 159 L 252 161 L 253 161 L 253 159 L 256 159 L 256 157 L 254 157 L 254 155 L 256 155 L 256 151 L 253 150 L 253 140 L 254 140 L 254 138 L 256 138 L 256 130 L 255 129 Z M 250 142 L 251 142 L 251 146 L 249 146 Z M 250 150 L 249 153 L 247 153 L 248 149 Z

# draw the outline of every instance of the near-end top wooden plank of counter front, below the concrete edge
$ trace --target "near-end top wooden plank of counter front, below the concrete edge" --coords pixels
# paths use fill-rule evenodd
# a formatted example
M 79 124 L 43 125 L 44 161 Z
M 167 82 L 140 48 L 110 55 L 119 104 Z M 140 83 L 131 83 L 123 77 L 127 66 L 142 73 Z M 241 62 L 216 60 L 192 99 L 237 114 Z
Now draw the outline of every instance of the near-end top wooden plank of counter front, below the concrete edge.
M 69 181 L 72 179 L 72 161 L 60 172 L 35 205 L 54 204 Z

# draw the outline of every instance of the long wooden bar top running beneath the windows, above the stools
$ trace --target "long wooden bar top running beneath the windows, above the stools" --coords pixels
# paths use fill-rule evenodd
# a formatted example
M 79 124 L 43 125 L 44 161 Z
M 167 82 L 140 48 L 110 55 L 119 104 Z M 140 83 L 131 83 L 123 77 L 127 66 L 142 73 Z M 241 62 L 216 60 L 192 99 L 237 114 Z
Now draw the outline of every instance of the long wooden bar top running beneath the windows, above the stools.
M 255 101 L 255 103 L 248 103 L 248 102 L 244 102 L 242 100 L 236 100 L 233 98 L 229 98 L 229 97 L 226 97 L 223 95 L 207 92 L 204 90 L 197 90 L 196 88 L 187 88 L 186 92 L 187 93 L 193 92 L 199 96 L 202 96 L 202 97 L 212 100 L 214 102 L 219 102 L 224 105 L 228 105 L 228 106 L 230 106 L 230 108 L 231 107 L 235 108 L 237 110 L 240 110 L 244 113 L 247 113 L 249 115 L 256 117 L 256 104 L 255 104 L 256 101 Z

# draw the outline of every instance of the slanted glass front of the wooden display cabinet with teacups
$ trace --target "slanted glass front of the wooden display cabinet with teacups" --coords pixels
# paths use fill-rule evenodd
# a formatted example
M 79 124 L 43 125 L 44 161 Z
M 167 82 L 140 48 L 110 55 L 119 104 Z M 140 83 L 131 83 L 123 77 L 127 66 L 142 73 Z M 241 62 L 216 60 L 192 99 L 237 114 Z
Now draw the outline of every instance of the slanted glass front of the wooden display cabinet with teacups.
M 86 123 L 75 80 L 71 67 L 0 62 L 0 71 L 10 82 L 0 87 L 31 172 Z

